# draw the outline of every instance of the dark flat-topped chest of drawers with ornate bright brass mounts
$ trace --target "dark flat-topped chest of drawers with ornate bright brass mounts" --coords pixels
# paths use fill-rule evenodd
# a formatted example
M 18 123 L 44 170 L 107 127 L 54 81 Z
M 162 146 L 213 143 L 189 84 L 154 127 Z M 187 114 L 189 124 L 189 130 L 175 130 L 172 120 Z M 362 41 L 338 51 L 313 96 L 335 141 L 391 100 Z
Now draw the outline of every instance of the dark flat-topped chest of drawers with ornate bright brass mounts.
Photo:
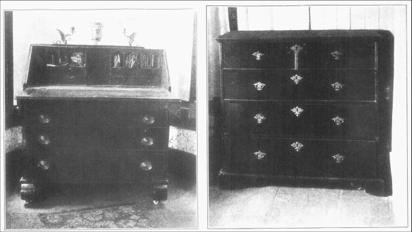
M 391 195 L 389 31 L 231 31 L 217 40 L 222 186 Z

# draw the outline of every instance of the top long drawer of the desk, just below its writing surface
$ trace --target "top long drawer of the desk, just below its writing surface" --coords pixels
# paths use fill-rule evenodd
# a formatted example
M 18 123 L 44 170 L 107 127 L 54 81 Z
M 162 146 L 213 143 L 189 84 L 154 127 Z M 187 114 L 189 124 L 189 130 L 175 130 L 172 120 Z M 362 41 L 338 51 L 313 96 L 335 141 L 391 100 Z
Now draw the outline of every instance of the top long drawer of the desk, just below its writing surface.
M 137 103 L 106 101 L 32 101 L 25 106 L 28 125 L 49 127 L 166 127 L 166 110 Z

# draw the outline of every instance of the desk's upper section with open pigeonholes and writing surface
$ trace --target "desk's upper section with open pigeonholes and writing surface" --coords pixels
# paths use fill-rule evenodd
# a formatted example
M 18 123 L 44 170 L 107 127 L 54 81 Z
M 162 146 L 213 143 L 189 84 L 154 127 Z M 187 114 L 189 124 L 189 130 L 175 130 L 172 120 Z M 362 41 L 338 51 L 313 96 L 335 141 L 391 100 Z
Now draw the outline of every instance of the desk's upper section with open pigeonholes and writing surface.
M 18 99 L 189 99 L 190 75 L 188 81 L 171 81 L 162 49 L 32 44 L 29 59 Z M 172 73 L 181 75 L 175 69 Z

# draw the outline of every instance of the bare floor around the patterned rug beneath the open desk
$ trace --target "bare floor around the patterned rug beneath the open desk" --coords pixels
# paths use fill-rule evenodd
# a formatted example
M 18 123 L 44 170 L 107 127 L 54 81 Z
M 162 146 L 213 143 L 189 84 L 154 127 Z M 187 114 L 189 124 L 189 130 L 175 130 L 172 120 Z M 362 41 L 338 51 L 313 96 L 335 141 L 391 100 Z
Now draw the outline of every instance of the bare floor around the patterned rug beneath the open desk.
M 6 194 L 6 229 L 46 229 L 38 214 L 133 204 L 155 228 L 196 228 L 196 183 L 171 176 L 168 201 L 153 205 L 150 192 L 139 185 L 66 185 L 32 209 L 23 207 L 19 191 Z

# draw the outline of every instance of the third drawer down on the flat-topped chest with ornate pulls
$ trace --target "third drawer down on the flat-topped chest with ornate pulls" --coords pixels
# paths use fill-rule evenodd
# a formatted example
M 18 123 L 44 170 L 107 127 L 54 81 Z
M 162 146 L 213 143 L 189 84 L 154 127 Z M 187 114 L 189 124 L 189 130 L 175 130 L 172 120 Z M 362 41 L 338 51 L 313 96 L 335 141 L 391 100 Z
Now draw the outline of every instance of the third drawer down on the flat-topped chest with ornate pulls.
M 376 105 L 225 103 L 225 125 L 233 134 L 376 140 Z

